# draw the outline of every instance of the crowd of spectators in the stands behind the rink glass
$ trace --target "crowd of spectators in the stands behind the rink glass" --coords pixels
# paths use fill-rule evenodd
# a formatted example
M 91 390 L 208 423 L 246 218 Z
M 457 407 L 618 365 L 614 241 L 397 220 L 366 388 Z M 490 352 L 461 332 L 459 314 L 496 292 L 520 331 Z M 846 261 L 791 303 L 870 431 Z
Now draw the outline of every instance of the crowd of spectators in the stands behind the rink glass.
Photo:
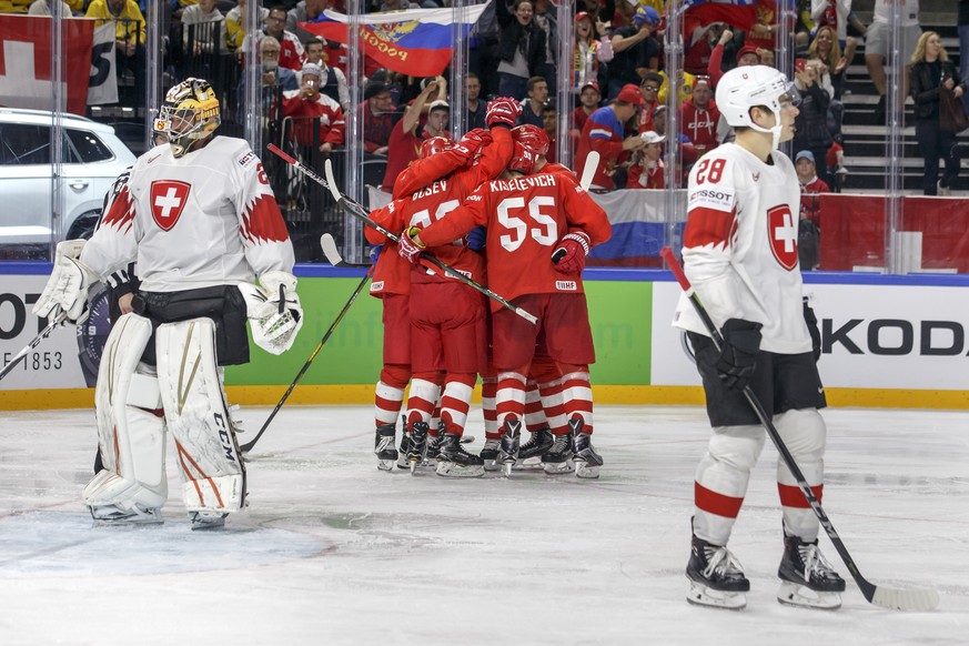
M 120 73 L 134 78 L 135 95 L 143 91 L 145 20 L 148 0 L 0 0 L 8 11 L 50 13 L 60 2 L 63 13 L 114 21 Z M 256 1 L 256 0 L 249 0 Z M 230 68 L 210 67 L 232 105 L 230 114 L 243 121 L 245 59 L 255 57 L 261 65 L 260 109 L 263 125 L 273 138 L 311 157 L 330 154 L 346 145 L 346 111 L 351 108 L 345 68 L 347 49 L 327 42 L 300 23 L 312 21 L 332 8 L 343 11 L 343 0 L 293 0 L 261 2 L 262 27 L 245 33 L 245 0 L 165 0 L 165 47 L 178 49 L 166 57 L 173 77 L 196 71 L 192 62 L 204 57 L 232 61 Z M 369 0 L 369 11 L 394 11 L 446 6 L 445 0 Z M 757 22 L 749 28 L 725 22 L 697 28 L 685 34 L 684 74 L 679 85 L 678 132 L 667 132 L 668 77 L 663 48 L 664 0 L 577 0 L 575 13 L 561 16 L 549 0 L 487 0 L 470 36 L 470 71 L 464 82 L 467 130 L 482 128 L 487 101 L 514 97 L 522 101 L 519 123 L 543 128 L 553 142 L 548 152 L 558 161 L 558 114 L 569 114 L 575 168 L 582 168 L 591 151 L 602 163 L 593 190 L 662 189 L 683 184 L 695 161 L 730 138 L 715 101 L 716 83 L 736 65 L 775 63 L 780 39 L 794 34 L 794 80 L 801 95 L 794 150 L 803 185 L 838 191 L 844 168 L 845 74 L 859 42 L 865 39 L 865 62 L 879 97 L 876 121 L 886 118 L 889 0 L 875 0 L 874 18 L 864 24 L 852 11 L 851 0 L 796 0 L 793 17 L 776 16 L 773 0 L 758 0 Z M 901 58 L 905 92 L 915 101 L 915 122 L 920 151 L 926 159 L 926 194 L 947 194 L 956 179 L 959 157 L 955 135 L 938 127 L 940 89 L 962 93 L 961 71 L 948 62 L 938 36 L 921 34 L 918 1 L 905 4 L 901 26 Z M 969 42 L 969 0 L 959 2 L 960 39 Z M 567 61 L 558 60 L 558 33 L 564 21 L 574 22 L 575 44 Z M 927 32 L 928 33 L 928 32 Z M 921 34 L 921 40 L 920 40 Z M 168 52 L 172 53 L 172 52 Z M 569 65 L 568 104 L 557 105 L 558 69 Z M 225 79 L 211 70 L 230 70 Z M 127 71 L 125 71 L 127 70 Z M 365 84 L 357 107 L 360 131 L 367 160 L 378 160 L 374 185 L 385 190 L 395 174 L 406 168 L 430 137 L 450 138 L 452 105 L 448 104 L 447 71 L 435 79 L 404 77 L 381 69 L 365 59 Z M 967 103 L 969 104 L 969 103 Z M 678 142 L 677 166 L 668 168 L 668 147 Z M 939 160 L 946 172 L 938 179 Z M 803 168 L 804 166 L 804 168 Z M 810 169 L 808 169 L 810 166 Z M 818 191 L 811 190 L 811 194 Z M 811 198 L 817 203 L 817 198 Z M 803 219 L 819 225 L 811 209 Z M 809 260 L 809 259 L 808 259 Z

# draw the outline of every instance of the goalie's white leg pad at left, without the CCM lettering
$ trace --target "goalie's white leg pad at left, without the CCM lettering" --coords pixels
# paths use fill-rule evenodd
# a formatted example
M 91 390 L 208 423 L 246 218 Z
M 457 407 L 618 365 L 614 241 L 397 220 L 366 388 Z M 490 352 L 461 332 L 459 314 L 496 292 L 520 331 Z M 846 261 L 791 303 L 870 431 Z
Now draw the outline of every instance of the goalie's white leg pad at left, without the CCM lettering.
M 95 519 L 145 522 L 135 517 L 145 513 L 158 518 L 158 508 L 168 498 L 158 380 L 150 366 L 140 363 L 149 339 L 151 322 L 125 314 L 104 344 L 94 390 L 104 468 L 84 488 L 84 502 Z M 123 518 L 125 514 L 133 517 Z

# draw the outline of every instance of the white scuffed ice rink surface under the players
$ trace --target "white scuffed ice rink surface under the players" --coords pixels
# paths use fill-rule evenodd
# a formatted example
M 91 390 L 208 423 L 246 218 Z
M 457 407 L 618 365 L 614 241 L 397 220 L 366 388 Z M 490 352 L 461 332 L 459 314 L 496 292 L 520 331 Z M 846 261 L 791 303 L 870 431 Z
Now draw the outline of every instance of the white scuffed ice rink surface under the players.
M 249 437 L 268 407 L 242 411 Z M 169 447 L 164 525 L 98 527 L 92 411 L 0 413 L 0 644 L 969 644 L 969 413 L 828 410 L 824 505 L 862 575 L 940 607 L 837 612 L 775 599 L 776 451 L 730 542 L 747 608 L 686 603 L 695 407 L 598 406 L 598 481 L 454 481 L 376 470 L 372 408 L 286 406 L 249 465 L 250 503 L 191 532 Z M 481 448 L 472 412 L 471 446 Z M 245 442 L 246 435 L 241 436 Z

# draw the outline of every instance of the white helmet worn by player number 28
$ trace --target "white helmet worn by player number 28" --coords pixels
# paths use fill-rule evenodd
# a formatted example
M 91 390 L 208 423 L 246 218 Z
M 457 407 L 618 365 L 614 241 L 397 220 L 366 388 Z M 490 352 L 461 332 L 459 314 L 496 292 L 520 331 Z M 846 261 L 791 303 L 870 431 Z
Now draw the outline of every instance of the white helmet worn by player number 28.
M 751 128 L 774 135 L 774 148 L 780 142 L 780 104 L 795 105 L 800 94 L 783 72 L 767 65 L 734 68 L 717 83 L 717 108 L 734 128 Z M 763 105 L 774 112 L 774 128 L 761 128 L 750 119 L 750 109 Z

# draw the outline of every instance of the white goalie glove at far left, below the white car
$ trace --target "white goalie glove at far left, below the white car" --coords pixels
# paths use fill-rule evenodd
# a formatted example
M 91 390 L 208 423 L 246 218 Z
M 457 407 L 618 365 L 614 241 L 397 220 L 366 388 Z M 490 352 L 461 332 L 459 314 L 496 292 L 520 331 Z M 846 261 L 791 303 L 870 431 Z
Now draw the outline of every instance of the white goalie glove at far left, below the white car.
M 31 312 L 49 320 L 63 314 L 67 321 L 74 324 L 88 320 L 88 287 L 98 276 L 78 260 L 82 249 L 83 240 L 58 243 L 53 272 Z

